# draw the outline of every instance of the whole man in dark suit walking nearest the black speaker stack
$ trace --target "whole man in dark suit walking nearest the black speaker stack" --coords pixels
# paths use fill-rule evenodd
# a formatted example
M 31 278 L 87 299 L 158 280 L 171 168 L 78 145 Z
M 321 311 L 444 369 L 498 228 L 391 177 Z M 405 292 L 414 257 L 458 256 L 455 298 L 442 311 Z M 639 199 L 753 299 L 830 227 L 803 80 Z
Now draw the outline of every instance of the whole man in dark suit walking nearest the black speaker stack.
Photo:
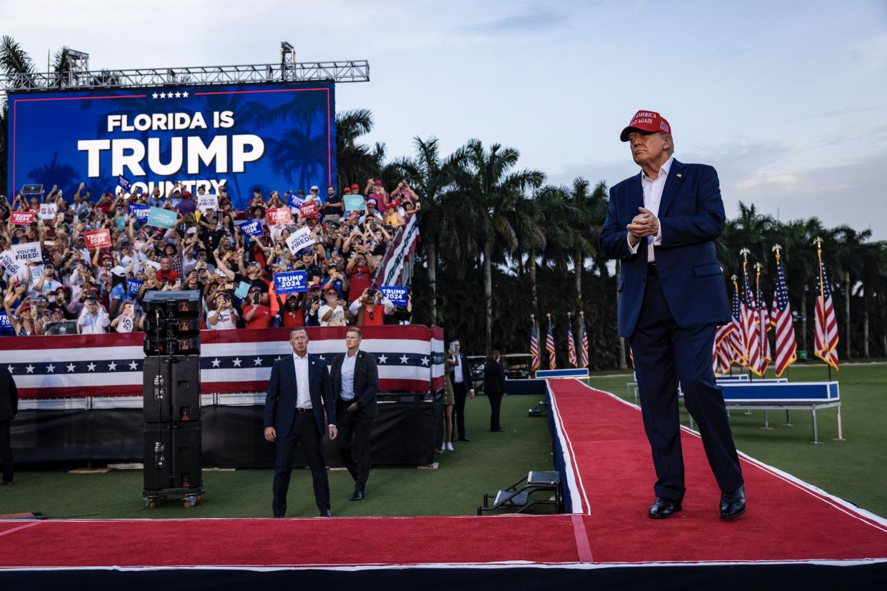
M 308 354 L 308 331 L 289 332 L 293 354 L 274 362 L 265 398 L 265 439 L 277 441 L 274 461 L 274 517 L 287 514 L 289 475 L 295 446 L 301 441 L 311 469 L 314 501 L 320 517 L 330 517 L 330 485 L 326 478 L 323 433 L 337 435 L 335 402 L 326 364 Z M 326 410 L 326 420 L 324 411 Z M 326 429 L 325 429 L 326 422 Z

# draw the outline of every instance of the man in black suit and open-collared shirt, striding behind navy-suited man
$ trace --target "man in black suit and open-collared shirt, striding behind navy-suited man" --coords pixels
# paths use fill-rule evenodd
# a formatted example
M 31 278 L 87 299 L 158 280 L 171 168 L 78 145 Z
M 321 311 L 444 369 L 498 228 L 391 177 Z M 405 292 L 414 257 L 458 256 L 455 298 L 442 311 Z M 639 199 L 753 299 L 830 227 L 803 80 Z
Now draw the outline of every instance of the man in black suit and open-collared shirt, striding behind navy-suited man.
M 379 369 L 372 354 L 360 350 L 363 333 L 357 326 L 345 332 L 348 352 L 333 360 L 333 392 L 339 417 L 341 461 L 354 478 L 351 501 L 363 501 L 366 480 L 370 478 L 370 431 L 379 415 L 376 393 Z

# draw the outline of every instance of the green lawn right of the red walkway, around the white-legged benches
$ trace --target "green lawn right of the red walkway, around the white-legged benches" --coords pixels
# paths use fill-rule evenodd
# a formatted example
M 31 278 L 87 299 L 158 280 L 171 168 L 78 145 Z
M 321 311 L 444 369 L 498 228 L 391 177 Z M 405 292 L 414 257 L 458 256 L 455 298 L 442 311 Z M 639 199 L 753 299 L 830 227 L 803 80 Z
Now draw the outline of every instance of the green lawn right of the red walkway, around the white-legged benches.
M 626 393 L 630 375 L 591 377 L 591 385 L 634 402 Z M 773 377 L 768 372 L 767 377 Z M 783 375 L 783 377 L 785 377 Z M 790 368 L 790 380 L 824 381 L 823 363 Z M 832 371 L 840 383 L 844 441 L 837 438 L 837 409 L 817 411 L 820 445 L 813 445 L 812 413 L 792 411 L 794 426 L 784 426 L 785 412 L 769 411 L 770 427 L 764 428 L 764 411 L 746 415 L 730 412 L 736 447 L 742 452 L 818 486 L 830 494 L 856 503 L 877 515 L 887 516 L 887 365 L 846 365 Z M 688 424 L 681 407 L 681 422 Z M 637 417 L 640 423 L 640 414 Z M 652 465 L 651 465 L 652 470 Z M 652 478 L 652 476 L 651 476 Z M 651 481 L 652 483 L 652 481 Z

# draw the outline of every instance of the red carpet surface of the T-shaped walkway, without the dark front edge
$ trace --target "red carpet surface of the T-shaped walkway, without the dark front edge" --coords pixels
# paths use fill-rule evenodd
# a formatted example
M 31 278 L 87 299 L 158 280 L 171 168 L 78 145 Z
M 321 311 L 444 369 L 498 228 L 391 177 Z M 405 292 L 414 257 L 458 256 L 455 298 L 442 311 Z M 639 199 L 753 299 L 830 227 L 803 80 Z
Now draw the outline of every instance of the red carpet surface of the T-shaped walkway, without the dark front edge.
M 0 552 L 0 569 L 887 558 L 883 520 L 747 458 L 749 511 L 721 521 L 718 488 L 691 432 L 683 434 L 684 510 L 649 519 L 654 473 L 638 410 L 577 381 L 550 384 L 576 475 L 574 509 L 585 515 L 7 521 L 0 548 L 14 551 Z M 343 553 L 341 540 L 359 551 Z

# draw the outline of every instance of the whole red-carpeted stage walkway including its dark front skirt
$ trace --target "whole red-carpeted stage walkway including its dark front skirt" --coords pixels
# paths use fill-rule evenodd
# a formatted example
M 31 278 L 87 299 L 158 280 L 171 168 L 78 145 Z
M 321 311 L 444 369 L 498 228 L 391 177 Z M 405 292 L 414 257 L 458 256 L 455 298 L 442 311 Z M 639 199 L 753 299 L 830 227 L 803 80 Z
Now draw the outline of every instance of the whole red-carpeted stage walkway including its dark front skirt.
M 765 580 L 872 588 L 887 581 L 887 521 L 753 458 L 742 456 L 749 510 L 722 521 L 702 443 L 687 429 L 684 510 L 649 519 L 654 475 L 638 408 L 577 380 L 552 380 L 548 392 L 569 514 L 6 521 L 0 585 L 686 588 Z

